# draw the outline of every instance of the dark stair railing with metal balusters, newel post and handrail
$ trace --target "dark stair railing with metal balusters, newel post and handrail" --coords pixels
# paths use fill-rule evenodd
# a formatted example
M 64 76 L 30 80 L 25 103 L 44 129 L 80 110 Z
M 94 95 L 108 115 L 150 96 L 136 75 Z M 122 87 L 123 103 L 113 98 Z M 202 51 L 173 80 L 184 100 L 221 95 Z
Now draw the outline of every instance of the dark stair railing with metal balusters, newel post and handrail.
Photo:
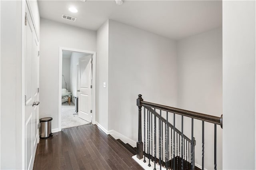
M 202 121 L 202 169 L 204 169 L 204 122 L 214 124 L 214 169 L 216 170 L 216 125 L 222 127 L 222 115 L 215 117 L 150 103 L 143 101 L 142 95 L 138 95 L 137 106 L 139 113 L 137 158 L 144 158 L 143 162 L 148 161 L 148 166 L 154 166 L 154 170 L 156 164 L 160 165 L 160 170 L 162 166 L 172 170 L 194 170 L 196 145 L 194 119 L 197 119 Z M 142 107 L 144 143 L 142 142 Z M 181 131 L 176 127 L 176 114 L 181 115 Z M 168 121 L 172 118 L 169 118 L 170 115 L 173 116 L 173 125 Z M 184 117 L 191 118 L 191 139 L 184 135 Z

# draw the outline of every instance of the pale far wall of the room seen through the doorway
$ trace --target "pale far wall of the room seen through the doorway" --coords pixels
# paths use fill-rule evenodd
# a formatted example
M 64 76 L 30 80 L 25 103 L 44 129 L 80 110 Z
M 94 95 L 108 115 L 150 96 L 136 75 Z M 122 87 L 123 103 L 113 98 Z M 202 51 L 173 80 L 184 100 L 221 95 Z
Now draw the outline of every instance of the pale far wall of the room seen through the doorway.
M 62 57 L 62 75 L 65 77 L 68 91 L 70 91 L 70 66 L 70 58 Z M 66 87 L 65 80 L 62 76 L 62 89 Z

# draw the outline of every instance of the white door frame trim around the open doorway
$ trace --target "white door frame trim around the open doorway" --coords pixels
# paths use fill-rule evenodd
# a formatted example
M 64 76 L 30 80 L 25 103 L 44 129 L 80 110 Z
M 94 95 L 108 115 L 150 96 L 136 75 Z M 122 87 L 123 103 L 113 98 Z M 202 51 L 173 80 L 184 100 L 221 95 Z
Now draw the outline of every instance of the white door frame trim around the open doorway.
M 62 89 L 62 52 L 71 51 L 92 55 L 92 124 L 96 115 L 96 52 L 84 49 L 59 47 L 59 85 L 58 85 L 58 131 L 61 131 L 61 89 Z

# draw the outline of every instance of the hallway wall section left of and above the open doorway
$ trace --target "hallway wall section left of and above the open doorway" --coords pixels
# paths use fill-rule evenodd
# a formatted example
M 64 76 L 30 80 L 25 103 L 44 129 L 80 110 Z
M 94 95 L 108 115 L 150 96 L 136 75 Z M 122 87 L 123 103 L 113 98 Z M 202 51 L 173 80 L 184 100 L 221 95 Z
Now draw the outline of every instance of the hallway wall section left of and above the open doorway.
M 58 128 L 59 47 L 96 51 L 96 32 L 41 18 L 40 118 L 52 117 Z

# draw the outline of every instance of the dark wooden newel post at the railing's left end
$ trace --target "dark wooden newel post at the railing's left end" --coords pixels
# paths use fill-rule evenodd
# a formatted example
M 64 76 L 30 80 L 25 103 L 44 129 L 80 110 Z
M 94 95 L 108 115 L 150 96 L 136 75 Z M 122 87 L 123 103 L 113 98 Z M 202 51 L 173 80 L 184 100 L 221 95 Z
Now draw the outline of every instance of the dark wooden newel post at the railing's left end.
M 137 158 L 138 159 L 143 158 L 143 142 L 142 142 L 142 128 L 141 128 L 142 104 L 140 103 L 141 101 L 143 101 L 142 95 L 138 95 L 138 99 L 137 99 L 137 106 L 138 106 L 138 112 L 139 112 L 139 127 L 138 127 L 138 142 L 137 142 Z

